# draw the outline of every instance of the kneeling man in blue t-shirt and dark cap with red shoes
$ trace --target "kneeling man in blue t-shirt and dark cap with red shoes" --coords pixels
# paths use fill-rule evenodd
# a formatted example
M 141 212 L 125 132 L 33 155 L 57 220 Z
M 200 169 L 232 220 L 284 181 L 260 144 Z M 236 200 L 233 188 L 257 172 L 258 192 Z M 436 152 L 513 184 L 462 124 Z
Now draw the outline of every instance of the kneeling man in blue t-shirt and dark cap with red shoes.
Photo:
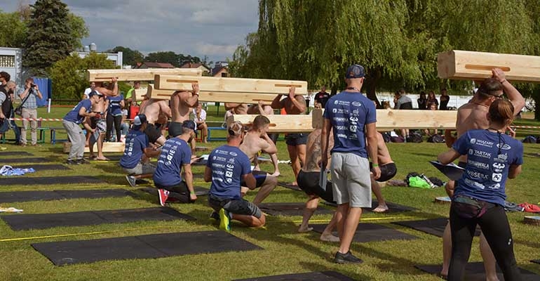
M 193 188 L 191 173 L 191 147 L 189 143 L 196 136 L 197 125 L 191 120 L 182 123 L 182 131 L 171 136 L 161 148 L 158 166 L 154 173 L 154 184 L 159 188 L 159 203 L 165 206 L 168 198 L 181 203 L 194 202 L 197 199 Z M 185 181 L 180 175 L 184 169 Z

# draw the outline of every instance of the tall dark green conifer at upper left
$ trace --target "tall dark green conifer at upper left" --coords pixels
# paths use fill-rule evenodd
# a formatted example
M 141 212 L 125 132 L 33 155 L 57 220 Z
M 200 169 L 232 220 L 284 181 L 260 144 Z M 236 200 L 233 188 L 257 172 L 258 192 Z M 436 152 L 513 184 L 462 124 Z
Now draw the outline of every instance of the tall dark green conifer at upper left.
M 70 16 L 66 4 L 60 0 L 37 0 L 30 8 L 22 63 L 30 67 L 32 74 L 44 75 L 47 67 L 80 46 L 81 36 L 86 36 L 88 30 L 75 28 L 84 21 Z

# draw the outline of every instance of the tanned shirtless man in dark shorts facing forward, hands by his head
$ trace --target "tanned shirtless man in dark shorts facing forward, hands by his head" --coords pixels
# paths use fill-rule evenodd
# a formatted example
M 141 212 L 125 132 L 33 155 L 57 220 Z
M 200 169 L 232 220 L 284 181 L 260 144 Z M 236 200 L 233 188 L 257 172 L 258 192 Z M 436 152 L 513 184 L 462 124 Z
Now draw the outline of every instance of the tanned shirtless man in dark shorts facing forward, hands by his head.
M 306 112 L 306 99 L 301 95 L 295 96 L 295 87 L 289 89 L 287 98 L 281 100 L 281 96 L 283 95 L 274 98 L 271 104 L 272 108 L 276 110 L 285 108 L 288 115 L 300 115 Z M 295 173 L 296 179 L 302 164 L 306 162 L 307 135 L 305 133 L 288 133 L 285 136 L 285 142 L 287 143 L 292 171 Z M 294 181 L 292 185 L 297 185 L 297 182 Z

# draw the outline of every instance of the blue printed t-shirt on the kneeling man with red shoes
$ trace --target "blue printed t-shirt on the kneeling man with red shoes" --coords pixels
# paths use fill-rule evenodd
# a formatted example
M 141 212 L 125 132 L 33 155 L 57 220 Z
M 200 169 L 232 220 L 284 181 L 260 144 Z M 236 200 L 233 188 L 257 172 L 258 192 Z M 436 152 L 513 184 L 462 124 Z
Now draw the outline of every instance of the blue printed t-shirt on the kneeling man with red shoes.
M 191 148 L 180 138 L 169 138 L 158 158 L 158 166 L 154 173 L 156 185 L 172 186 L 182 181 L 180 170 L 182 165 L 191 163 Z

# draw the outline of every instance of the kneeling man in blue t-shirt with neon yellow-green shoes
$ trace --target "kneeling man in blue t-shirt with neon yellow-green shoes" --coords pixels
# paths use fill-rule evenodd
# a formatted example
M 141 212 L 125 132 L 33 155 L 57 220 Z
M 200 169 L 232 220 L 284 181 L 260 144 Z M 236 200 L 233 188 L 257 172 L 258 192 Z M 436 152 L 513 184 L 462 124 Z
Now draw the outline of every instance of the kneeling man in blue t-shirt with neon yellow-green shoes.
M 231 219 L 241 221 L 247 226 L 264 226 L 266 218 L 262 211 L 252 202 L 243 200 L 241 195 L 241 181 L 245 182 L 245 186 L 250 190 L 254 190 L 257 183 L 251 174 L 248 155 L 238 148 L 244 138 L 243 126 L 238 121 L 233 122 L 229 124 L 227 131 L 227 145 L 210 152 L 204 171 L 204 181 L 212 182 L 208 204 L 215 212 L 219 212 L 222 230 L 231 230 Z

